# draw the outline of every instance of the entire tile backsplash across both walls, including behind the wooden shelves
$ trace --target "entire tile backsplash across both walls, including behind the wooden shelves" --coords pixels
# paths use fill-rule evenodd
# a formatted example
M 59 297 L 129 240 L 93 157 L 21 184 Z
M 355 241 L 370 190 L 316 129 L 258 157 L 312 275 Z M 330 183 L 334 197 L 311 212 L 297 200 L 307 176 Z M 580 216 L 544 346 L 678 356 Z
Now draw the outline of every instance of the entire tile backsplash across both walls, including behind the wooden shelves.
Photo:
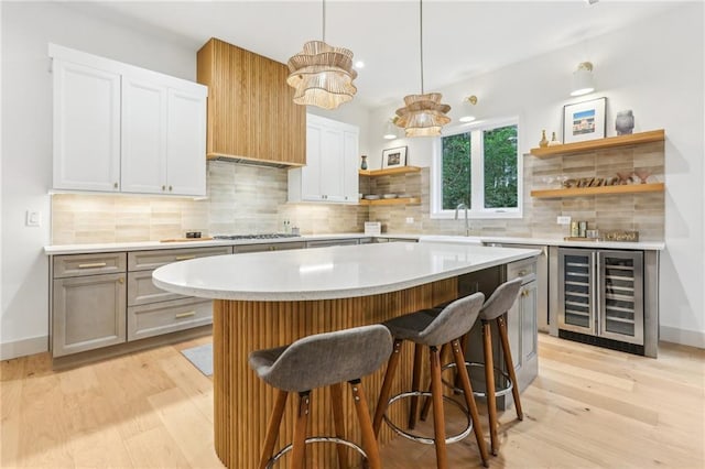
M 557 177 L 608 177 L 646 168 L 649 182 L 663 182 L 663 143 L 625 146 L 549 159 L 523 156 L 523 217 L 470 221 L 470 234 L 557 238 L 567 229 L 560 215 L 585 220 L 590 229 L 637 230 L 641 240 L 664 238 L 664 194 L 534 199 L 531 189 L 557 188 Z M 367 220 L 389 233 L 463 234 L 463 220 L 430 216 L 430 170 L 383 177 L 361 177 L 360 193 L 408 193 L 421 205 L 358 206 L 289 204 L 286 170 L 208 162 L 208 197 L 202 200 L 129 195 L 55 194 L 52 243 L 158 241 L 204 236 L 282 231 L 284 220 L 303 234 L 361 232 Z M 406 219 L 413 218 L 408 223 Z

